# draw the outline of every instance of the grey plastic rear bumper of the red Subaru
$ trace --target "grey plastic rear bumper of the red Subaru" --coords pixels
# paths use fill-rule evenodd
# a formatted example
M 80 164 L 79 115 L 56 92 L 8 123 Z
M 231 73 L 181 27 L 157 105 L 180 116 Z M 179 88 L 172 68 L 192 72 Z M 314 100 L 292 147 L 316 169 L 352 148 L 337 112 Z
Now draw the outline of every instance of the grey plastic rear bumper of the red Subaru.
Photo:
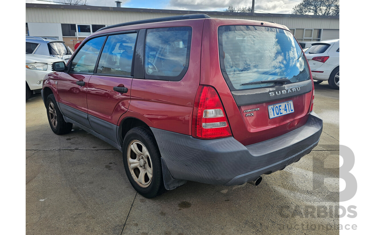
M 166 189 L 186 180 L 207 184 L 241 185 L 299 161 L 318 144 L 322 120 L 314 112 L 307 123 L 282 136 L 242 145 L 233 137 L 200 140 L 151 128 L 161 152 Z

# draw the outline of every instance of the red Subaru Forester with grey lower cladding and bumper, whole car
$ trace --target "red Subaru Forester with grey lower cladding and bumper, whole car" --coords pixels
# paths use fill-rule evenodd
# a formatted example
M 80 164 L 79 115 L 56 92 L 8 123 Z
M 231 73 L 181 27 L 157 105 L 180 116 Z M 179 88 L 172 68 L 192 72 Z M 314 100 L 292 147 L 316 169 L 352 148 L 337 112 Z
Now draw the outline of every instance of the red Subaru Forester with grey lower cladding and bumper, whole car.
M 260 184 L 319 141 L 313 79 L 287 27 L 204 14 L 104 27 L 43 82 L 51 129 L 118 148 L 155 197 L 187 180 Z

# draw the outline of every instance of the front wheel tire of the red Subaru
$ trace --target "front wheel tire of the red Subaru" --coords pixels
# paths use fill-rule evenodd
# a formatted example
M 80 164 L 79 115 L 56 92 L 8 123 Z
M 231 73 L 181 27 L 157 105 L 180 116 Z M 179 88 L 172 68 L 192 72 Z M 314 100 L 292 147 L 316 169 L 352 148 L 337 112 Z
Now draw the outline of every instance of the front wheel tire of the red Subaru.
M 72 123 L 65 122 L 64 117 L 59 111 L 56 99 L 50 94 L 46 100 L 46 110 L 49 125 L 55 134 L 62 135 L 71 132 Z

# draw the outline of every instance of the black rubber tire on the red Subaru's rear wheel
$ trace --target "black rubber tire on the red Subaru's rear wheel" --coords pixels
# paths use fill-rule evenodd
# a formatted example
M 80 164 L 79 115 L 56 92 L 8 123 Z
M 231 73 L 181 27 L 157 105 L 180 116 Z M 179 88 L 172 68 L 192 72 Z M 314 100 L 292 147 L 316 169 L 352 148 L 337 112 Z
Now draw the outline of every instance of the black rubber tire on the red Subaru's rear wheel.
M 149 181 L 150 183 L 148 185 L 142 185 L 142 183 L 138 183 L 138 179 L 136 177 L 138 177 L 136 175 L 136 171 L 139 174 L 141 174 L 141 172 L 143 172 L 143 168 L 141 165 L 139 164 L 138 167 L 134 167 L 135 169 L 130 169 L 130 165 L 128 165 L 128 157 L 133 158 L 133 154 L 136 157 L 135 159 L 138 161 L 139 157 L 137 154 L 135 154 L 133 152 L 133 150 L 130 148 L 131 145 L 133 145 L 133 143 L 136 143 L 138 145 L 138 149 L 139 146 L 141 147 L 141 149 L 146 148 L 147 149 L 147 154 L 142 154 L 141 158 L 143 162 L 143 159 L 145 159 L 144 157 L 146 155 L 149 155 L 149 157 L 144 161 L 144 164 L 146 166 L 146 168 L 148 168 L 147 164 L 149 164 L 149 168 L 152 169 L 152 177 L 151 179 L 147 176 L 147 181 Z M 139 143 L 143 144 L 144 146 L 140 145 Z M 129 149 L 129 150 L 128 150 Z M 147 197 L 147 198 L 152 198 L 152 197 L 156 197 L 158 195 L 161 195 L 161 193 L 163 193 L 165 191 L 165 186 L 164 186 L 164 180 L 162 177 L 162 168 L 161 168 L 161 154 L 160 154 L 160 150 L 158 150 L 158 146 L 157 146 L 157 142 L 151 132 L 150 129 L 143 127 L 143 126 L 139 126 L 139 127 L 135 127 L 132 128 L 131 130 L 129 130 L 126 134 L 126 136 L 124 137 L 123 140 L 123 164 L 124 164 L 124 169 L 126 170 L 126 174 L 128 177 L 129 182 L 132 184 L 133 188 L 142 196 Z M 129 153 L 128 153 L 129 151 Z M 143 152 L 142 150 L 140 150 L 140 152 Z M 145 155 L 145 156 L 143 156 Z M 148 159 L 150 161 L 148 161 Z M 134 161 L 136 161 L 134 160 Z M 143 168 L 143 169 L 142 169 Z M 147 169 L 145 170 L 145 172 L 143 172 L 145 174 L 147 174 Z M 133 176 L 132 176 L 133 174 Z M 143 181 L 146 180 L 146 175 L 143 175 Z M 142 177 L 141 177 L 142 178 Z M 143 187 L 141 187 L 139 184 L 141 184 Z

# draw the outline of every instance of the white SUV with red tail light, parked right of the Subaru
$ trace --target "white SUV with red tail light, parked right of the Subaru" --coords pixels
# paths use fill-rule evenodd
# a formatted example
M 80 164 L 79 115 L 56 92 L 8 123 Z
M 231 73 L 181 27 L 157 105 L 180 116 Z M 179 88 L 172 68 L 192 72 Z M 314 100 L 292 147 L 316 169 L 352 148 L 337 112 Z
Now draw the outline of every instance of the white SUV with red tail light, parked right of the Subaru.
M 327 81 L 332 89 L 340 87 L 340 40 L 327 40 L 312 44 L 305 52 L 314 84 Z

